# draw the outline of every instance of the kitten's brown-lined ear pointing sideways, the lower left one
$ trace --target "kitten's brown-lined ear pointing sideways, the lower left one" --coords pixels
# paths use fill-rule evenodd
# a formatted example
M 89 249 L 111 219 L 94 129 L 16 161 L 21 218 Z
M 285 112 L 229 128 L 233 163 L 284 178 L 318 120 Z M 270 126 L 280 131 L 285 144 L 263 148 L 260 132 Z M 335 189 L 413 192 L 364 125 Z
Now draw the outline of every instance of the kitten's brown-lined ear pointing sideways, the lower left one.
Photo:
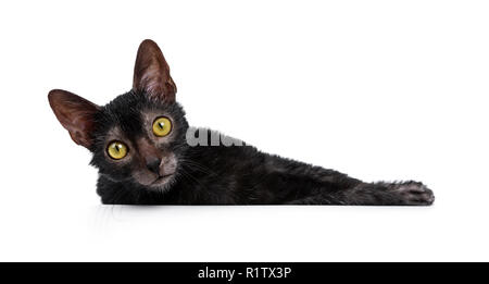
M 100 107 L 66 90 L 53 89 L 48 95 L 49 104 L 72 139 L 88 149 L 93 144 L 95 114 Z

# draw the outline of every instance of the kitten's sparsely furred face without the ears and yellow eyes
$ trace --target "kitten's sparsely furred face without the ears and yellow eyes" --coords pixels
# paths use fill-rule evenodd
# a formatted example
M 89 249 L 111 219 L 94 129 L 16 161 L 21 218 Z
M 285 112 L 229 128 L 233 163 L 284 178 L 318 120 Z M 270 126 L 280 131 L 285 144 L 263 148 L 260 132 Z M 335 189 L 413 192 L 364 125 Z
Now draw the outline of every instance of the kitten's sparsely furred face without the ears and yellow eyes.
M 153 121 L 166 116 L 173 129 L 168 136 L 156 137 L 151 132 Z M 95 116 L 95 143 L 91 164 L 101 175 L 115 182 L 138 183 L 149 188 L 165 189 L 175 178 L 178 158 L 188 148 L 185 134 L 188 123 L 177 102 L 162 102 L 139 91 L 129 91 L 104 106 Z M 108 156 L 113 140 L 125 143 L 129 151 L 124 159 Z M 156 163 L 156 169 L 151 164 Z

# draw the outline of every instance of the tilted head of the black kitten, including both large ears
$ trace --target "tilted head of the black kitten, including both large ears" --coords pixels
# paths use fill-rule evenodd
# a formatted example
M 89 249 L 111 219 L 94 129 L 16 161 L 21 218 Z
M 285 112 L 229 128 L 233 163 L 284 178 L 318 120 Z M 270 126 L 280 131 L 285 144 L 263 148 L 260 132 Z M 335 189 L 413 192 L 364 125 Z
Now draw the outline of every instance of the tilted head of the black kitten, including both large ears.
M 175 94 L 163 53 L 147 39 L 138 49 L 129 92 L 103 107 L 61 89 L 48 98 L 72 139 L 93 153 L 91 164 L 101 175 L 162 189 L 174 181 L 188 147 L 188 124 Z

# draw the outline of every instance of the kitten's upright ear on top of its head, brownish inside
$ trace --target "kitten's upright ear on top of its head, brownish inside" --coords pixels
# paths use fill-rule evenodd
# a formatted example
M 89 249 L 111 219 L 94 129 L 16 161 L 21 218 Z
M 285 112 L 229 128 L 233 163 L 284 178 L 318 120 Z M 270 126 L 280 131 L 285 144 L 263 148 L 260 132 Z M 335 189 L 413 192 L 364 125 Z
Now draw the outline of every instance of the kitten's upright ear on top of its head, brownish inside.
M 176 86 L 170 76 L 170 67 L 158 45 L 151 39 L 141 42 L 134 66 L 133 89 L 150 97 L 175 101 Z

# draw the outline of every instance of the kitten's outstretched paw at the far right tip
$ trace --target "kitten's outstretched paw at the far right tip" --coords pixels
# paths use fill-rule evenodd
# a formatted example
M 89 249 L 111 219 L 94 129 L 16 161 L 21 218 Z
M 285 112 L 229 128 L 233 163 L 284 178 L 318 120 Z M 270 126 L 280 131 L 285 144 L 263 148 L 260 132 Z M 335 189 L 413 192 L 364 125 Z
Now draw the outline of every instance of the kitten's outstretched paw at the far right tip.
M 394 184 L 392 189 L 401 196 L 403 203 L 408 206 L 430 206 L 435 201 L 432 190 L 418 182 Z

